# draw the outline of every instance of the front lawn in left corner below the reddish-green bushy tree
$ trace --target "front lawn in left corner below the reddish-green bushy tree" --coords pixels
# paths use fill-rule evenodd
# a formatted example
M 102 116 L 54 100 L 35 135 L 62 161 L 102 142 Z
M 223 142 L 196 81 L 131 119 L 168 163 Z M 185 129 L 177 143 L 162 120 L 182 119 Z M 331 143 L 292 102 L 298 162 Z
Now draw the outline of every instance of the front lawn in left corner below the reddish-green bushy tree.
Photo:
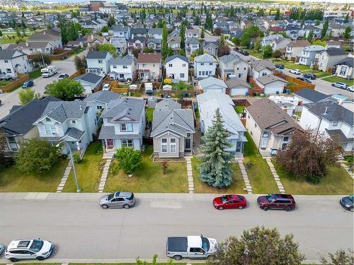
M 40 174 L 23 174 L 16 167 L 0 170 L 0 192 L 56 192 L 69 160 L 60 160 L 51 170 Z

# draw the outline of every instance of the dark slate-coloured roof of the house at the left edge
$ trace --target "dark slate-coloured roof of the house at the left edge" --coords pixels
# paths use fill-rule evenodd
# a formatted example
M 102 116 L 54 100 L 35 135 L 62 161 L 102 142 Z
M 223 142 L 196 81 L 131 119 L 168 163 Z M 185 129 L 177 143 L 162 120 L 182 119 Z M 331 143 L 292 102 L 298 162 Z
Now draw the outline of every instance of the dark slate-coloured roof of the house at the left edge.
M 61 101 L 58 98 L 46 97 L 32 100 L 23 106 L 13 106 L 10 113 L 0 120 L 0 128 L 8 136 L 24 135 L 33 128 L 35 122 L 51 101 Z

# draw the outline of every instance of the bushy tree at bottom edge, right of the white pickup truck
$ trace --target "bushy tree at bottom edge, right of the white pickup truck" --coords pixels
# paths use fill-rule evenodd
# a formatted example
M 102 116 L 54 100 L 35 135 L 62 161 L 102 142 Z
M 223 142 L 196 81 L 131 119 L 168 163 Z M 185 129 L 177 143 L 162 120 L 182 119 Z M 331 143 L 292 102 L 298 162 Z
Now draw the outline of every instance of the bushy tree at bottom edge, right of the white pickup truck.
M 294 235 L 281 237 L 277 228 L 251 228 L 240 238 L 229 237 L 222 242 L 208 265 L 300 265 L 304 255 Z

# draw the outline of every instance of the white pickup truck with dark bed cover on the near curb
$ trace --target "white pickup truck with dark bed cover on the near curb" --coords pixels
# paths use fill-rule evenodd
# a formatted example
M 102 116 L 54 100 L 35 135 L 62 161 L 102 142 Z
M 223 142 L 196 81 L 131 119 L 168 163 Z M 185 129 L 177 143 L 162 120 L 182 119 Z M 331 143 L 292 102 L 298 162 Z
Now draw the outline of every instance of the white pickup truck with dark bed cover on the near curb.
M 166 243 L 167 257 L 180 260 L 207 259 L 217 251 L 217 240 L 202 235 L 188 237 L 168 237 Z

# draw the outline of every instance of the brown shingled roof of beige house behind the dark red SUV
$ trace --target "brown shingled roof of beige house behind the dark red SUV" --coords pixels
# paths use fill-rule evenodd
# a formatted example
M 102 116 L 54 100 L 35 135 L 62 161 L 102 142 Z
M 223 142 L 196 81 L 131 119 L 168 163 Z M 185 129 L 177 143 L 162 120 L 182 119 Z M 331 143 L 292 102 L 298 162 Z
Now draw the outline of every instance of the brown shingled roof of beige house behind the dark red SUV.
M 295 129 L 302 130 L 292 117 L 268 98 L 253 102 L 246 110 L 263 131 L 284 135 L 290 134 Z

